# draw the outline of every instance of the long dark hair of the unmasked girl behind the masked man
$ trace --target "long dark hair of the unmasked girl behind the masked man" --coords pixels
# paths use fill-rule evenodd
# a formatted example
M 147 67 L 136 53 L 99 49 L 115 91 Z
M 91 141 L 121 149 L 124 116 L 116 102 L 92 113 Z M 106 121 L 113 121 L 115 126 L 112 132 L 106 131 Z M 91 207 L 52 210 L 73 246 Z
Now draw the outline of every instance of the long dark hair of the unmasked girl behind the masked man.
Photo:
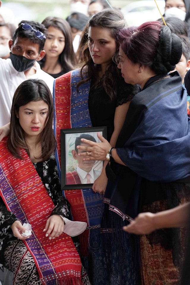
M 65 47 L 62 53 L 59 55 L 58 61 L 61 64 L 64 72 L 69 72 L 74 69 L 75 64 L 77 63 L 75 52 L 72 45 L 72 36 L 71 36 L 71 27 L 69 23 L 59 17 L 47 17 L 42 21 L 42 24 L 46 29 L 49 27 L 54 27 L 55 29 L 60 30 L 65 37 Z M 45 57 L 42 61 L 45 61 Z

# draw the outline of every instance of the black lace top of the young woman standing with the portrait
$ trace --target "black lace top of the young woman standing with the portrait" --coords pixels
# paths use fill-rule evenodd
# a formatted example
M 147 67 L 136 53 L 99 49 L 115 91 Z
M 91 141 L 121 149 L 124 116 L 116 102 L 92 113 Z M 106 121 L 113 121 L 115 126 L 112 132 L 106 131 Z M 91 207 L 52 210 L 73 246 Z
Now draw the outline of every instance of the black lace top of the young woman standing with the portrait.
M 107 126 L 107 140 L 110 141 L 114 130 L 115 108 L 131 101 L 135 94 L 140 91 L 138 85 L 125 83 L 124 79 L 116 78 L 116 96 L 110 101 L 101 81 L 96 88 L 92 88 L 94 80 L 91 80 L 91 87 L 88 96 L 88 109 L 93 127 Z

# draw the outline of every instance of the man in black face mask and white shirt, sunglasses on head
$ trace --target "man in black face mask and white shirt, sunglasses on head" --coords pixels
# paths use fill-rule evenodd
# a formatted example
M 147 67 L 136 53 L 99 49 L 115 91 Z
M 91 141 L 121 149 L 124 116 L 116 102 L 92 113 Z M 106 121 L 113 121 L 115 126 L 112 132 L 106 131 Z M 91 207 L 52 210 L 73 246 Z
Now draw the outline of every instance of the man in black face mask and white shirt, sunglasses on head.
M 1 1 L 0 1 L 1 7 Z M 21 21 L 9 40 L 10 58 L 0 58 L 0 126 L 9 122 L 12 97 L 18 85 L 28 78 L 44 80 L 53 91 L 54 78 L 40 69 L 37 61 L 43 50 L 47 29 L 34 21 Z

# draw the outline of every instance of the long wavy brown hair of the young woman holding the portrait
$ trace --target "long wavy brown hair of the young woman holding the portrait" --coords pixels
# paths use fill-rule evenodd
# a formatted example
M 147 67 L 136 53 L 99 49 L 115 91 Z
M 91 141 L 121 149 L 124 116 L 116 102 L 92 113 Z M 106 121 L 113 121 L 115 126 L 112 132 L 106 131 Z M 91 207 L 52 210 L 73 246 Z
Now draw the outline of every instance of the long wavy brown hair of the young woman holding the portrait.
M 126 21 L 124 20 L 124 16 L 121 12 L 114 9 L 104 9 L 101 12 L 98 12 L 91 16 L 89 19 L 87 26 L 85 27 L 85 31 L 88 34 L 88 30 L 90 27 L 101 27 L 110 31 L 111 36 L 114 38 L 115 34 L 122 28 L 126 26 Z M 113 61 L 110 61 L 110 64 L 105 72 L 105 75 L 102 77 L 102 85 L 105 89 L 106 93 L 110 96 L 112 100 L 115 97 L 115 78 L 121 77 L 121 72 L 117 68 L 118 62 L 118 50 L 119 44 L 116 45 L 117 51 L 114 55 Z M 84 82 L 91 80 L 94 78 L 94 87 L 99 83 L 99 71 L 101 66 L 99 64 L 94 64 L 93 59 L 90 55 L 90 50 L 88 48 L 88 41 L 86 42 L 83 52 L 82 59 L 79 65 L 80 74 L 83 78 L 84 72 L 87 72 L 87 78 L 81 80 L 77 87 L 79 87 Z

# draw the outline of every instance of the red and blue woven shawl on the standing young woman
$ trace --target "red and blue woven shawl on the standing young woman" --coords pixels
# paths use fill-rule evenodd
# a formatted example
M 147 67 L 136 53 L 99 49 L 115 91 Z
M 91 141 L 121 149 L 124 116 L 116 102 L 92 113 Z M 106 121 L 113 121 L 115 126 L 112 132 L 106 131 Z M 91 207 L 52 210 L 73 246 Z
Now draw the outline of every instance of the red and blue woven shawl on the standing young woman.
M 90 81 L 80 85 L 79 90 L 77 91 L 77 83 L 80 80 L 80 70 L 77 69 L 58 77 L 54 81 L 54 134 L 57 141 L 56 159 L 59 167 L 59 174 L 61 169 L 60 129 L 85 128 L 92 126 L 88 110 Z M 72 219 L 74 221 L 85 221 L 87 223 L 87 229 L 80 235 L 80 239 L 83 240 L 84 243 L 82 249 L 83 254 L 88 254 L 86 242 L 87 239 L 89 239 L 89 229 L 100 228 L 103 197 L 99 193 L 94 193 L 92 189 L 64 190 L 63 194 L 71 205 Z M 86 242 L 84 242 L 84 237 Z

